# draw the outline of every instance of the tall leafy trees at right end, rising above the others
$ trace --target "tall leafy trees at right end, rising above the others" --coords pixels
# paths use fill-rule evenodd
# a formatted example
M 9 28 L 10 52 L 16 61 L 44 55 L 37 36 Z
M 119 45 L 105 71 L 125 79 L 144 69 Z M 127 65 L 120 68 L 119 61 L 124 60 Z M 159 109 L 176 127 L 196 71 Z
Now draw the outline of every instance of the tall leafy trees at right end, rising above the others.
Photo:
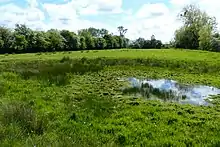
M 175 31 L 175 47 L 218 51 L 216 42 L 213 43 L 217 28 L 215 17 L 192 4 L 185 6 L 179 16 L 183 26 Z

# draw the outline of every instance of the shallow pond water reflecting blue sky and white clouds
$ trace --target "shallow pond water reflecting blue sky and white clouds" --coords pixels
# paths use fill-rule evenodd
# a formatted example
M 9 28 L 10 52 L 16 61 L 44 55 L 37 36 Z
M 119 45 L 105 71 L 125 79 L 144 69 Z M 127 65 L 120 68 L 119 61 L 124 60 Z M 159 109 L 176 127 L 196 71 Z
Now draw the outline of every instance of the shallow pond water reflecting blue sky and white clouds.
M 149 99 L 178 101 L 181 104 L 210 105 L 211 95 L 220 94 L 220 89 L 203 85 L 183 85 L 174 80 L 140 80 L 127 79 L 131 87 L 125 93 L 139 93 Z M 130 90 L 129 90 L 130 89 Z

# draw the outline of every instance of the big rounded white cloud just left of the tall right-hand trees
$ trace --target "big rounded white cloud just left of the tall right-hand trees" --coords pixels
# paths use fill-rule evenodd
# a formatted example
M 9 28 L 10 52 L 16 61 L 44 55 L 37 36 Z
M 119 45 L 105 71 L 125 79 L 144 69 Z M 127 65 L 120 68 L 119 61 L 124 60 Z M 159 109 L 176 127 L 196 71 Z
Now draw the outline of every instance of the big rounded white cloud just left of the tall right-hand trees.
M 127 36 L 131 39 L 150 39 L 151 35 L 155 35 L 157 39 L 168 42 L 179 27 L 175 17 L 173 10 L 164 3 L 145 4 L 126 20 Z

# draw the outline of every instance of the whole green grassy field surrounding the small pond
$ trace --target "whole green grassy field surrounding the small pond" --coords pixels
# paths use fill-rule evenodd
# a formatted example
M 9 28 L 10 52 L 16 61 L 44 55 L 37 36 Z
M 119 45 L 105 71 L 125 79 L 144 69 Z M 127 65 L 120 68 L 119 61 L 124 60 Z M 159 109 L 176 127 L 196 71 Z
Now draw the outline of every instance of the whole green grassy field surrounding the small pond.
M 108 50 L 0 56 L 0 146 L 220 146 L 220 104 L 124 95 L 118 78 L 220 88 L 218 53 Z

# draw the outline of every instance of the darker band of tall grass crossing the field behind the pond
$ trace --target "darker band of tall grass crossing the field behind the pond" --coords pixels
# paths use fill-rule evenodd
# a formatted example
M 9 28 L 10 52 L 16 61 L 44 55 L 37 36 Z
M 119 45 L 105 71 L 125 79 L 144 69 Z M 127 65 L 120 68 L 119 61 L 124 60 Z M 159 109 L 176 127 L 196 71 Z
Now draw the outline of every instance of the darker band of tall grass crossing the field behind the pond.
M 180 59 L 149 58 L 77 58 L 63 57 L 60 60 L 34 60 L 34 61 L 7 61 L 0 63 L 0 71 L 13 71 L 21 73 L 24 77 L 39 75 L 40 73 L 62 74 L 96 72 L 104 67 L 118 65 L 148 66 L 166 69 L 178 69 L 193 73 L 219 73 L 218 62 L 192 61 Z

